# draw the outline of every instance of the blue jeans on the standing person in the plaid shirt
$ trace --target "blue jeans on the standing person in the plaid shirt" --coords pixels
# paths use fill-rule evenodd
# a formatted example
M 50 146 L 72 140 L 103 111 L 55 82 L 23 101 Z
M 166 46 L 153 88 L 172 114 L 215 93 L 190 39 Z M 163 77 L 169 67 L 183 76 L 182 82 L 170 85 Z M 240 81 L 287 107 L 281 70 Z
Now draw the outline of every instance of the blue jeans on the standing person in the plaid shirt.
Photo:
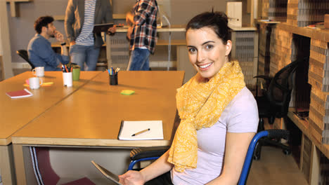
M 148 71 L 150 70 L 150 62 L 148 57 L 150 51 L 148 49 L 135 48 L 131 50 L 130 60 L 128 64 L 129 71 Z

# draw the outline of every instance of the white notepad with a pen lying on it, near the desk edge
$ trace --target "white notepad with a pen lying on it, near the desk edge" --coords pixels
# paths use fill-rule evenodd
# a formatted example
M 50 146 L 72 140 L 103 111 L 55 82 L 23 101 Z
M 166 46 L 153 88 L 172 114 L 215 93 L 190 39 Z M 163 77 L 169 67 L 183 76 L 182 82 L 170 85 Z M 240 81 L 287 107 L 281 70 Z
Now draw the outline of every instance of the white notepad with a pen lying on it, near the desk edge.
M 162 121 L 122 121 L 118 139 L 163 139 Z

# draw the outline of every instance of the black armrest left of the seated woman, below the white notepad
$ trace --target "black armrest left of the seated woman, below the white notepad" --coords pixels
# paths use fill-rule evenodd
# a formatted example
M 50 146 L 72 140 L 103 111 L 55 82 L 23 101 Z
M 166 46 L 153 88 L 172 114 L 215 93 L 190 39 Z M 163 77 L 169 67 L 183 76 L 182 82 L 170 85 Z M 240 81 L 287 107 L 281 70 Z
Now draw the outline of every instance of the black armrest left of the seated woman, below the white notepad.
M 132 149 L 130 151 L 130 159 L 138 160 L 141 158 L 160 157 L 169 149 L 169 147 L 170 146 L 154 146 Z

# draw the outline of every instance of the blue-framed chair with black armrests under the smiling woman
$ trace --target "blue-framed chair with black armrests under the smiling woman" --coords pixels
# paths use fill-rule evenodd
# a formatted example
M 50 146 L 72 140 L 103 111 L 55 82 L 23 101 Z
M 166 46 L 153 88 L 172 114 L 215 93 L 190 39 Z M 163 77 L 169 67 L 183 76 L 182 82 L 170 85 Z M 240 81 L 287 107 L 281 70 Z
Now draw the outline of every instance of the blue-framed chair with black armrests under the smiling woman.
M 243 185 L 247 183 L 250 167 L 252 165 L 252 156 L 259 139 L 262 139 L 264 137 L 289 139 L 289 135 L 290 134 L 288 130 L 263 130 L 262 132 L 258 132 L 256 135 L 254 135 L 252 141 L 250 142 L 247 154 L 245 156 L 245 163 L 243 163 L 243 169 L 240 174 L 238 185 Z M 155 160 L 162 156 L 162 154 L 165 153 L 167 149 L 169 149 L 169 146 L 145 147 L 131 150 L 131 162 L 129 164 L 128 170 L 140 170 L 134 169 L 134 165 L 136 163 L 142 160 Z

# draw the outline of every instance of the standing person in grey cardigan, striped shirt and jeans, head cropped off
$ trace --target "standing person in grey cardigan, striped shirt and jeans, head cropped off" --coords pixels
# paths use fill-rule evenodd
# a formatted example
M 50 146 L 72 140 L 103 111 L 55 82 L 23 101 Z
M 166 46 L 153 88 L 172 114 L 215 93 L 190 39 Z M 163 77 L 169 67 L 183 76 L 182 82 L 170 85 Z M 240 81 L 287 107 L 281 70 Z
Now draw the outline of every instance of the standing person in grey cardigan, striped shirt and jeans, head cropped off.
M 70 41 L 71 62 L 84 71 L 96 71 L 99 51 L 103 45 L 101 33 L 93 34 L 93 26 L 113 23 L 109 0 L 69 0 L 65 13 L 65 32 Z M 108 32 L 115 33 L 116 27 Z

